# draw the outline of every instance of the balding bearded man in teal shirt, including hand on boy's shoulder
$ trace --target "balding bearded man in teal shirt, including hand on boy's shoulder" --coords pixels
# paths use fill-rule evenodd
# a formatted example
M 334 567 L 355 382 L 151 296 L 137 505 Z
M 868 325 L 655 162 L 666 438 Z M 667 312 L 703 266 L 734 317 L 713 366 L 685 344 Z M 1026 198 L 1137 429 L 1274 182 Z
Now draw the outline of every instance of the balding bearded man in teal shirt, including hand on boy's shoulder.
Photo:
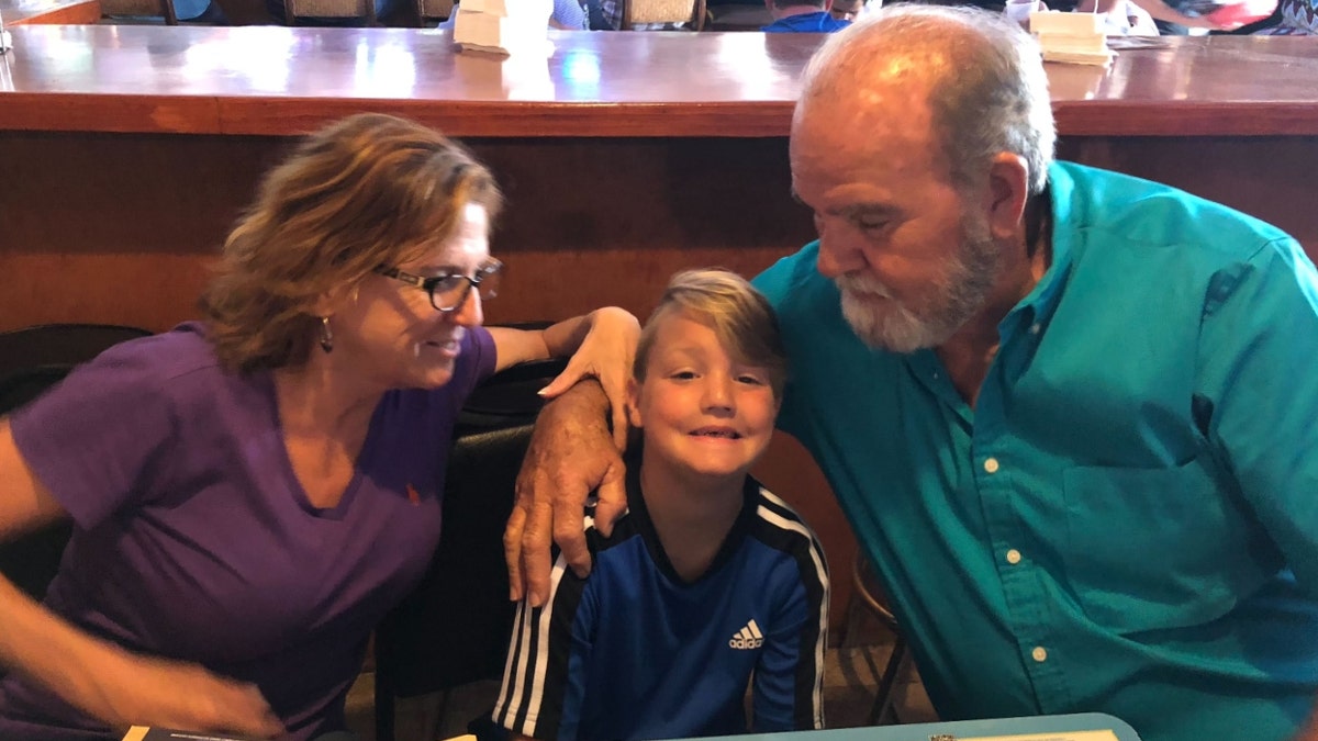
M 792 182 L 820 240 L 757 280 L 791 359 L 779 426 L 940 715 L 1318 740 L 1318 273 L 1296 241 L 1052 162 L 1037 47 L 996 16 L 884 8 L 803 90 Z M 510 522 L 536 596 L 547 483 L 618 501 L 590 393 L 550 409 Z

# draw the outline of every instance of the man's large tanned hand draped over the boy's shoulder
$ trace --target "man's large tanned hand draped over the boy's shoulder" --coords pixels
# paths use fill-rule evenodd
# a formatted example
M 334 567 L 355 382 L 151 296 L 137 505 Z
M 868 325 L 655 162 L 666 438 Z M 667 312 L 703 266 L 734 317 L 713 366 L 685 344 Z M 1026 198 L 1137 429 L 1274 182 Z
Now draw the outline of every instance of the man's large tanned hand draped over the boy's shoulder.
M 551 401 L 517 477 L 517 501 L 503 531 L 509 597 L 543 605 L 550 593 L 551 541 L 579 576 L 590 572 L 581 513 L 596 492 L 596 529 L 605 537 L 627 510 L 626 471 L 613 442 L 609 401 L 598 382 L 583 381 Z

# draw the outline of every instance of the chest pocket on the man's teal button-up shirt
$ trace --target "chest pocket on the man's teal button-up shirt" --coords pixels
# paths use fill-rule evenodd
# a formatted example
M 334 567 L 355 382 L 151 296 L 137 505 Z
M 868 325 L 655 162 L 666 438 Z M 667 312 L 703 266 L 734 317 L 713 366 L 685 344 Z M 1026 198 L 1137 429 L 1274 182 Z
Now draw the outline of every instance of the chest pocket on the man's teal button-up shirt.
M 1207 455 L 1170 468 L 1068 468 L 1066 579 L 1118 633 L 1213 621 L 1267 579 L 1261 530 Z

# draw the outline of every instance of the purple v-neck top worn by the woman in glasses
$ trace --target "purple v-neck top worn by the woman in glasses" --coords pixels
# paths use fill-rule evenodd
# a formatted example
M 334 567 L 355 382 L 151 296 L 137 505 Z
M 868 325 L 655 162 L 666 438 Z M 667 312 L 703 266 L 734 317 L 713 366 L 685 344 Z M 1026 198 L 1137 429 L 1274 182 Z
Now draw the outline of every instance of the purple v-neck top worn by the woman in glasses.
M 46 604 L 130 650 L 256 683 L 293 738 L 340 729 L 370 630 L 439 542 L 453 421 L 493 369 L 476 328 L 448 385 L 385 394 L 341 501 L 316 509 L 270 373 L 225 372 L 195 323 L 111 348 L 12 417 L 75 522 Z M 0 738 L 109 730 L 0 682 Z

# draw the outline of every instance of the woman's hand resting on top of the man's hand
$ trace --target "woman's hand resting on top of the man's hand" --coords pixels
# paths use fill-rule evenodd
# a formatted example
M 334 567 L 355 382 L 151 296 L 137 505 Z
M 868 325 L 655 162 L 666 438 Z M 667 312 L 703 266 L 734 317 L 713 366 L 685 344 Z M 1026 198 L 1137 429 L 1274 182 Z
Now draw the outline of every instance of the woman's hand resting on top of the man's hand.
M 556 398 L 581 378 L 600 381 L 609 400 L 613 443 L 619 451 L 627 447 L 627 380 L 639 338 L 641 323 L 625 309 L 606 306 L 592 311 L 589 330 L 567 368 L 540 389 L 544 398 Z

